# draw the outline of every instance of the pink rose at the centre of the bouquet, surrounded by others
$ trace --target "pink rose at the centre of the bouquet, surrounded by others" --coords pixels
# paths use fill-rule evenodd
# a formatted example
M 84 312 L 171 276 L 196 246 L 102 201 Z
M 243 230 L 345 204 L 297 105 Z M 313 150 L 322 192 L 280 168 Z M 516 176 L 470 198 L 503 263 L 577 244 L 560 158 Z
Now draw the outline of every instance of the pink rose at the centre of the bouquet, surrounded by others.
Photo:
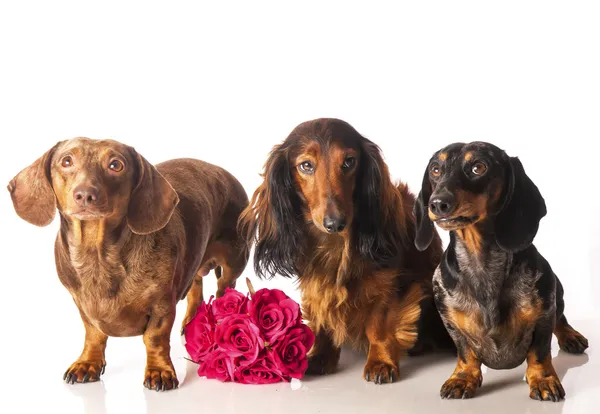
M 265 347 L 258 327 L 248 315 L 232 315 L 221 321 L 215 329 L 215 343 L 231 358 L 236 365 L 247 366 L 258 358 Z

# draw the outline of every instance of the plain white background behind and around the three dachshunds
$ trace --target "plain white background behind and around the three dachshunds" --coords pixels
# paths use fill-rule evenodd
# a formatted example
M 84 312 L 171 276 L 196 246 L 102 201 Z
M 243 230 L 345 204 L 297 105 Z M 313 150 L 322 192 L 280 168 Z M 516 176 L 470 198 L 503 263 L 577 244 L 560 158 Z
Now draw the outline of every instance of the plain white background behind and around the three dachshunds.
M 600 314 L 600 4 L 208 3 L 3 2 L 0 181 L 56 141 L 87 136 L 155 163 L 218 164 L 250 196 L 273 145 L 300 122 L 338 117 L 416 193 L 434 151 L 490 141 L 521 158 L 546 199 L 535 244 L 565 287 L 568 317 Z M 39 377 L 36 366 L 58 381 L 64 369 L 45 372 L 43 361 L 66 369 L 83 344 L 55 273 L 58 220 L 22 221 L 8 192 L 0 217 L 0 346 L 26 364 L 0 382 Z M 246 276 L 299 298 L 292 281 L 256 279 L 251 262 Z M 119 341 L 143 361 L 141 338 Z

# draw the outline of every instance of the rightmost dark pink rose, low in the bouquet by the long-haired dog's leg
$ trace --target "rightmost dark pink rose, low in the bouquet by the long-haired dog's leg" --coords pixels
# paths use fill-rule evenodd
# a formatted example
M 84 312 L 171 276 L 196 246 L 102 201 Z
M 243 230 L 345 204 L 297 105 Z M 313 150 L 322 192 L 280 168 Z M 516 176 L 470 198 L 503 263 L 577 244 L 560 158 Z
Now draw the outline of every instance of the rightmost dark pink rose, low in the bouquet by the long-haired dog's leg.
M 307 325 L 299 323 L 273 348 L 273 360 L 284 376 L 300 379 L 308 368 L 306 354 L 315 343 L 315 335 Z

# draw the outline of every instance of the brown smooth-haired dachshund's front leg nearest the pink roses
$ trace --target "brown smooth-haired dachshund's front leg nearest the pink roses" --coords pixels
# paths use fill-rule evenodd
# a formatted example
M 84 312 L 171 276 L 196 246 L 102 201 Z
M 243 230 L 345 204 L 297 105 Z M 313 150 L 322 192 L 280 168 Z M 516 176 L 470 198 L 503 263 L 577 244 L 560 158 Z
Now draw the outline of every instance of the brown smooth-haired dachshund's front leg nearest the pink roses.
M 174 321 L 175 303 L 171 298 L 157 303 L 152 309 L 144 331 L 144 345 L 146 345 L 144 386 L 148 389 L 166 391 L 175 389 L 179 385 L 170 355 L 170 337 Z

